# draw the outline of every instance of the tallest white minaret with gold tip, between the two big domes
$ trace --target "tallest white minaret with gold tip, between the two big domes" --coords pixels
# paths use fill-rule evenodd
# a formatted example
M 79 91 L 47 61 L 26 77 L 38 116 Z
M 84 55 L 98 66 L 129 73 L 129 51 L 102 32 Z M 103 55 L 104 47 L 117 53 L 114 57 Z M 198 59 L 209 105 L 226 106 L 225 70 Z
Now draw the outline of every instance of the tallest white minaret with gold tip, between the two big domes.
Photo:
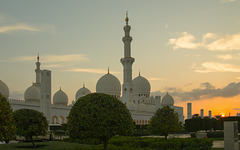
M 132 64 L 134 58 L 131 57 L 131 42 L 130 36 L 131 27 L 128 25 L 128 13 L 126 13 L 126 26 L 124 26 L 125 36 L 122 38 L 124 43 L 124 58 L 121 58 L 123 65 L 123 85 L 122 85 L 122 101 L 128 103 L 133 100 L 133 83 L 132 83 Z

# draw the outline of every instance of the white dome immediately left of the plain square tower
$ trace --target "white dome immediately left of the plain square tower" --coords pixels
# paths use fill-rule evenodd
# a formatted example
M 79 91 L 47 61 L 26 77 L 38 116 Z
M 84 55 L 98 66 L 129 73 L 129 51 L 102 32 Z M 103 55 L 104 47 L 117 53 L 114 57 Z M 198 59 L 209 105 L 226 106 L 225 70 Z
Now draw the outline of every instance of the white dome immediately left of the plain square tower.
M 40 89 L 34 85 L 26 89 L 24 99 L 27 102 L 40 102 Z

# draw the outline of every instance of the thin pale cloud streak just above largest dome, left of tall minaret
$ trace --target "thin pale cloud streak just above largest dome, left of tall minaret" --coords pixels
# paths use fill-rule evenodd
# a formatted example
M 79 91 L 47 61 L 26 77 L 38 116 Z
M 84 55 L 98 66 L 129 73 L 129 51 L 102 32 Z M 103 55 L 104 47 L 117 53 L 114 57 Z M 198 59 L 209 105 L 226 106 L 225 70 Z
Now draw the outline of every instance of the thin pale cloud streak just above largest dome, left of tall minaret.
M 106 74 L 106 69 L 90 69 L 90 68 L 72 68 L 66 69 L 64 71 L 68 72 L 86 72 L 86 73 L 96 73 L 96 74 Z M 111 74 L 121 74 L 121 72 L 111 71 Z

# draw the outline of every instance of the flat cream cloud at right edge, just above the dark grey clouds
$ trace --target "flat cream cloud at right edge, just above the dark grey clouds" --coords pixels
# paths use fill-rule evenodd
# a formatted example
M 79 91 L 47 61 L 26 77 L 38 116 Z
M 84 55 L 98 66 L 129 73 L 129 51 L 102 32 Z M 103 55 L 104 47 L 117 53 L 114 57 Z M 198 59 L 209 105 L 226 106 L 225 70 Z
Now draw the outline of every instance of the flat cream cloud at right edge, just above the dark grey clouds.
M 192 65 L 195 72 L 209 73 L 209 72 L 240 72 L 240 66 L 231 64 L 222 64 L 217 62 L 204 62 L 201 67 L 197 67 L 196 64 Z

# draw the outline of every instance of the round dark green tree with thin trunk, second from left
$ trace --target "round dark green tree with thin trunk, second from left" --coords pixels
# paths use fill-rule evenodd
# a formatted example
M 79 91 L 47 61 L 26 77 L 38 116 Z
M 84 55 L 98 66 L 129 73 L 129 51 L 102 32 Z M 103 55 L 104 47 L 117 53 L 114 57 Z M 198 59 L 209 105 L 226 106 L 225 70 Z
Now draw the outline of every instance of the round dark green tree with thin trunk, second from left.
M 48 123 L 43 113 L 33 109 L 19 109 L 14 111 L 13 116 L 17 135 L 24 136 L 27 140 L 30 139 L 33 147 L 35 147 L 33 136 L 46 135 Z

